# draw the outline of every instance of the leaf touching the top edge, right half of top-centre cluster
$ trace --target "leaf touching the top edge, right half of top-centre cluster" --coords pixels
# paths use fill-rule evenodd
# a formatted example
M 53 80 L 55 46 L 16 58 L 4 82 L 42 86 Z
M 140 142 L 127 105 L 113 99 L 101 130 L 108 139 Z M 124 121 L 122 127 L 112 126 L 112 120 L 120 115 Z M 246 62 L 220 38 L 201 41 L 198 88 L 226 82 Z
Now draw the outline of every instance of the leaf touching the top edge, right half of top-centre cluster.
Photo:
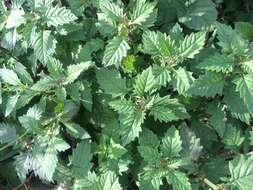
M 142 27 L 151 27 L 156 21 L 157 10 L 155 2 L 147 2 L 146 0 L 137 0 L 131 14 L 131 24 L 137 24 Z

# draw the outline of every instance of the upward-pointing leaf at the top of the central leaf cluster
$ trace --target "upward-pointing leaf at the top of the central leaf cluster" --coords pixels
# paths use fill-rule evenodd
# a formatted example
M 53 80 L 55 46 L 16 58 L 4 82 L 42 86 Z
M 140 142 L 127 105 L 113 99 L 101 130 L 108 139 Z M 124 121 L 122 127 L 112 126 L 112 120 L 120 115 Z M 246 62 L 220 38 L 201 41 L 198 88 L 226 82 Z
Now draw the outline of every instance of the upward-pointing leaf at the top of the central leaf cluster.
M 147 92 L 153 90 L 155 85 L 155 77 L 152 68 L 149 67 L 136 77 L 134 92 L 139 96 L 144 96 Z

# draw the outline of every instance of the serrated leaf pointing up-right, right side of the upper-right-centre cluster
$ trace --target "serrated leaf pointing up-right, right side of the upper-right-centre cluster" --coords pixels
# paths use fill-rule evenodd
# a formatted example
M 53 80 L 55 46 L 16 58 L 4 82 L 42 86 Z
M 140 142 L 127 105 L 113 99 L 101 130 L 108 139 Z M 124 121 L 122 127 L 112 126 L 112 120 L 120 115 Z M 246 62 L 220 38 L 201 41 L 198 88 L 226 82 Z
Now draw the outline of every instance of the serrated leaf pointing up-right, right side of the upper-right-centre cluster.
M 178 49 L 179 56 L 182 59 L 193 59 L 194 56 L 203 48 L 205 39 L 205 32 L 191 33 L 190 35 L 185 36 Z

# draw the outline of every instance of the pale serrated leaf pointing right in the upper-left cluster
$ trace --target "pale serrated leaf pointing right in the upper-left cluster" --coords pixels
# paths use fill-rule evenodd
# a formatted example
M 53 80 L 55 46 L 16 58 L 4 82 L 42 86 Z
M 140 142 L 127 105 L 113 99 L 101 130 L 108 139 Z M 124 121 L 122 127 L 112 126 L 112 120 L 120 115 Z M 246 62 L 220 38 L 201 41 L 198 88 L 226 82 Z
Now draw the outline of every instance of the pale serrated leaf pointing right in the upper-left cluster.
M 60 26 L 63 24 L 68 24 L 77 19 L 77 17 L 71 13 L 70 10 L 65 7 L 47 7 L 45 16 L 43 18 L 47 23 L 48 27 L 50 26 Z

